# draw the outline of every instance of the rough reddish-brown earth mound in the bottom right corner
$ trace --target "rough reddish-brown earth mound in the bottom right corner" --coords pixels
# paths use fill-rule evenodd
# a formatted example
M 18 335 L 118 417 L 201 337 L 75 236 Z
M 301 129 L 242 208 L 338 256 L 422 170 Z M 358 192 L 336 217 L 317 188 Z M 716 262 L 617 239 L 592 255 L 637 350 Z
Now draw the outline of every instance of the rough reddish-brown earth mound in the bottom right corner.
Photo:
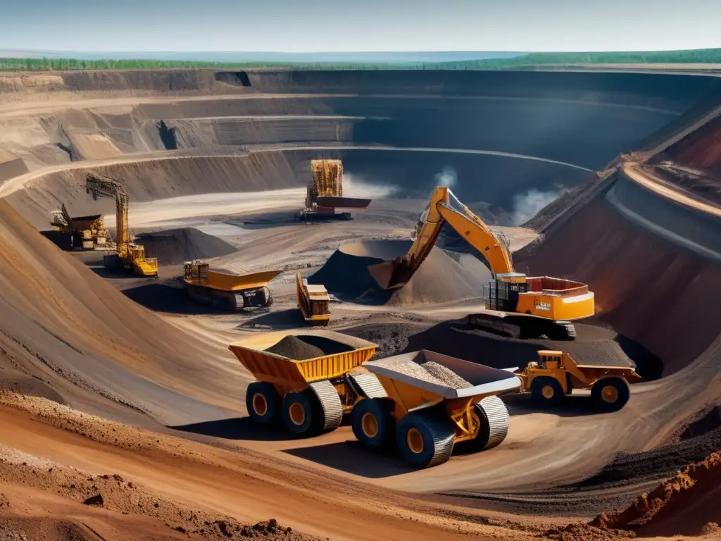
M 624 511 L 602 513 L 594 526 L 634 529 L 642 535 L 699 535 L 721 522 L 721 452 L 689 465 L 643 494 Z

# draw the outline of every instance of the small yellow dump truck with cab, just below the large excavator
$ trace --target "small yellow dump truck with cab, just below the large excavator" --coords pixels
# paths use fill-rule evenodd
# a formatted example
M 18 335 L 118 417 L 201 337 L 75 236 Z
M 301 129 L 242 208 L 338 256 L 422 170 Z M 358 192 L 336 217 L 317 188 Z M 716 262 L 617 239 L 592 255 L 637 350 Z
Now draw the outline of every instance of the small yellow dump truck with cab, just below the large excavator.
M 641 379 L 633 366 L 578 364 L 562 351 L 541 350 L 538 361 L 523 370 L 513 369 L 521 379 L 521 392 L 530 392 L 541 405 L 559 405 L 574 389 L 590 390 L 598 410 L 617 411 L 631 394 L 629 383 Z

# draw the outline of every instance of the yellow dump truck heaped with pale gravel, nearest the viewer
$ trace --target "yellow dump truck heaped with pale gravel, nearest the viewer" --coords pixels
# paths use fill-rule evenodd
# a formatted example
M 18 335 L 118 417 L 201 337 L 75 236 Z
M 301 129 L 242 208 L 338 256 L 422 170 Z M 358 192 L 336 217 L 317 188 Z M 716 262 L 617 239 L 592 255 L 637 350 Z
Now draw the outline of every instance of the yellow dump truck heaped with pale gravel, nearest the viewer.
M 446 462 L 456 445 L 483 451 L 508 434 L 508 410 L 495 395 L 519 387 L 515 374 L 428 350 L 363 368 L 386 393 L 353 408 L 353 433 L 368 449 L 392 442 L 410 465 L 430 467 Z

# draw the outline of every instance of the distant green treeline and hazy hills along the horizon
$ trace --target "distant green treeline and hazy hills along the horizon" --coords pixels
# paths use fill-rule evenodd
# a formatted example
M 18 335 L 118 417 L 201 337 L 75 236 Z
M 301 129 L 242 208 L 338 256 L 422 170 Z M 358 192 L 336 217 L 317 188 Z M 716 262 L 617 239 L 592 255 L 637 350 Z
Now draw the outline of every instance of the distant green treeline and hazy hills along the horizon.
M 0 58 L 0 71 L 76 71 L 84 69 L 524 69 L 547 65 L 634 63 L 721 63 L 721 49 L 640 53 L 530 53 L 512 58 L 450 62 L 199 62 L 173 60 L 79 60 L 76 58 Z

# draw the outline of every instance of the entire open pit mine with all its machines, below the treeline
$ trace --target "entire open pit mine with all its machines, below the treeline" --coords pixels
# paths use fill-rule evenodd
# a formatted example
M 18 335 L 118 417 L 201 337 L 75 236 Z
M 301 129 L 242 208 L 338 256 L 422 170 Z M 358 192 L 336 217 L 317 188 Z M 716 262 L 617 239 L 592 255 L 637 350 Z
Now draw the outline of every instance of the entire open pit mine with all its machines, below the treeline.
M 0 74 L 0 539 L 721 538 L 721 79 Z

